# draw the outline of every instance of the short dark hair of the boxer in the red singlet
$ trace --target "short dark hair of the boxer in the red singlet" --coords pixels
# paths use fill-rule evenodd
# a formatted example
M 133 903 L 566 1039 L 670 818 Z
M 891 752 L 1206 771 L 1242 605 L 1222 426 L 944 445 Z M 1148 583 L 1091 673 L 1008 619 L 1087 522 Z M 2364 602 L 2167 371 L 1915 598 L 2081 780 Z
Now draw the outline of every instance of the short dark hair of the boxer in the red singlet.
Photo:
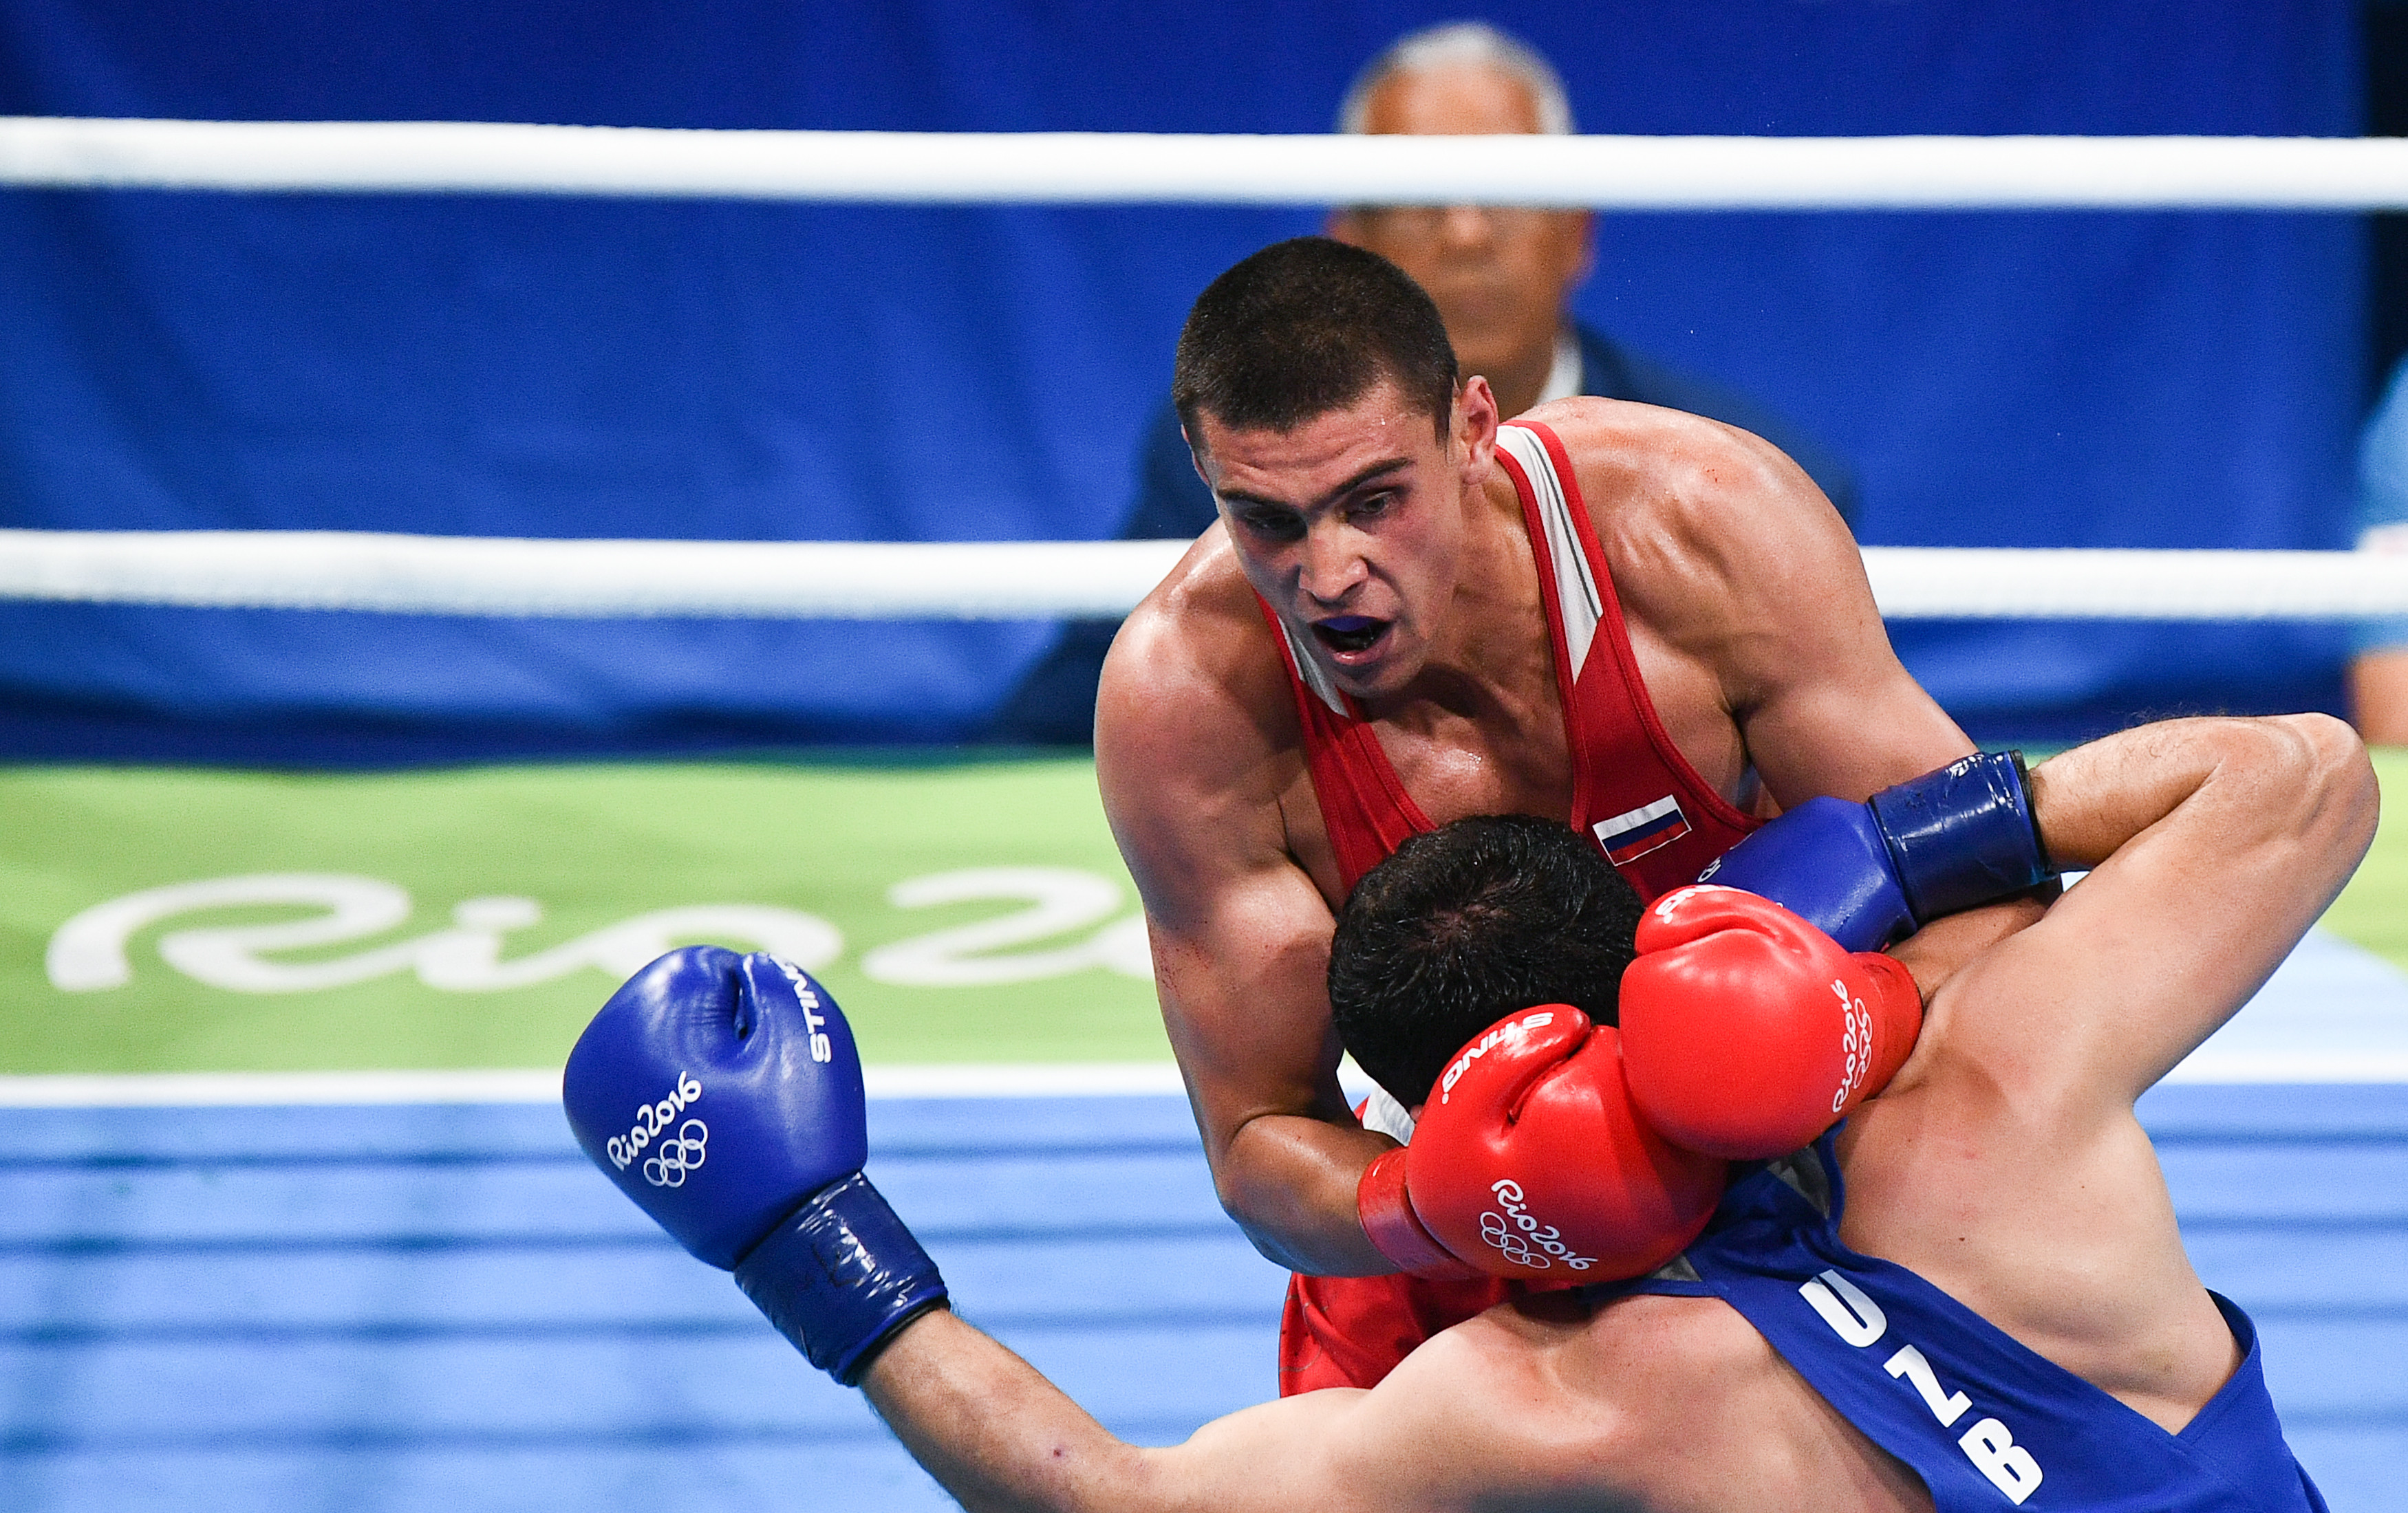
M 1380 380 L 1421 404 L 1438 438 L 1454 414 L 1454 346 L 1401 267 L 1327 236 L 1274 243 L 1214 279 L 1187 310 L 1170 402 L 1230 431 L 1293 431 Z

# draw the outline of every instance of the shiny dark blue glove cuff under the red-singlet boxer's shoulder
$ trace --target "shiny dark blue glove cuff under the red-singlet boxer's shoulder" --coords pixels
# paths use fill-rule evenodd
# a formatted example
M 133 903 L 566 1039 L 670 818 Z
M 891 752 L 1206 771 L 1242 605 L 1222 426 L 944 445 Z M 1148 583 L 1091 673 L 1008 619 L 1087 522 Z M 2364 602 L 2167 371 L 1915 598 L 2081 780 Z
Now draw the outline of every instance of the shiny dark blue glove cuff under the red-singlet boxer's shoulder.
M 1917 924 L 2054 876 L 2032 820 L 2023 753 L 1982 750 L 1871 799 L 1873 825 Z

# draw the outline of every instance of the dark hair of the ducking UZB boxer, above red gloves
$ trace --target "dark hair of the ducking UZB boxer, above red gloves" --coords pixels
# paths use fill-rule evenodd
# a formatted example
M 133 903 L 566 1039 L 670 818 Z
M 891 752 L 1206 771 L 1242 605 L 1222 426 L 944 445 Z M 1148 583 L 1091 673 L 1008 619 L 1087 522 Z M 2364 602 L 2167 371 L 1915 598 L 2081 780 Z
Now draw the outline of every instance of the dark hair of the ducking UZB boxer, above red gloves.
M 1464 1042 L 1534 1003 L 1618 1022 L 1640 895 L 1560 820 L 1474 815 L 1356 885 L 1329 943 L 1339 1042 L 1411 1109 Z

